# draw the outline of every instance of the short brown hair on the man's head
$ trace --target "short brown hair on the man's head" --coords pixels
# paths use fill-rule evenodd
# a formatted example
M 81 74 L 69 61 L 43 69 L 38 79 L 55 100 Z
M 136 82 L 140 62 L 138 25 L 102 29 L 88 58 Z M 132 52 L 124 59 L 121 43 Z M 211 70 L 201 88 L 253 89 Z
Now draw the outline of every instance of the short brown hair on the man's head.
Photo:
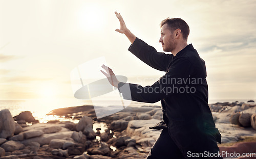
M 183 19 L 181 19 L 181 18 L 166 18 L 163 21 L 161 21 L 161 23 L 160 23 L 161 28 L 166 23 L 168 25 L 168 28 L 172 32 L 175 31 L 176 29 L 180 29 L 183 39 L 185 39 L 187 41 L 187 37 L 189 35 L 189 26 Z

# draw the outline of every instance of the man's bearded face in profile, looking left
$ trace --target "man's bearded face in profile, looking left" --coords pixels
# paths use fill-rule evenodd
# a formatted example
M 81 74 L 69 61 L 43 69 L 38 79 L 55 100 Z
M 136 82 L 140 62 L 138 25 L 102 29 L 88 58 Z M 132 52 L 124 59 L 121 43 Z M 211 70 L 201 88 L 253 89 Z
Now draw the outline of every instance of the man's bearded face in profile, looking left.
M 166 52 L 172 52 L 177 45 L 173 33 L 170 31 L 167 24 L 162 26 L 159 42 L 162 43 L 163 51 Z

